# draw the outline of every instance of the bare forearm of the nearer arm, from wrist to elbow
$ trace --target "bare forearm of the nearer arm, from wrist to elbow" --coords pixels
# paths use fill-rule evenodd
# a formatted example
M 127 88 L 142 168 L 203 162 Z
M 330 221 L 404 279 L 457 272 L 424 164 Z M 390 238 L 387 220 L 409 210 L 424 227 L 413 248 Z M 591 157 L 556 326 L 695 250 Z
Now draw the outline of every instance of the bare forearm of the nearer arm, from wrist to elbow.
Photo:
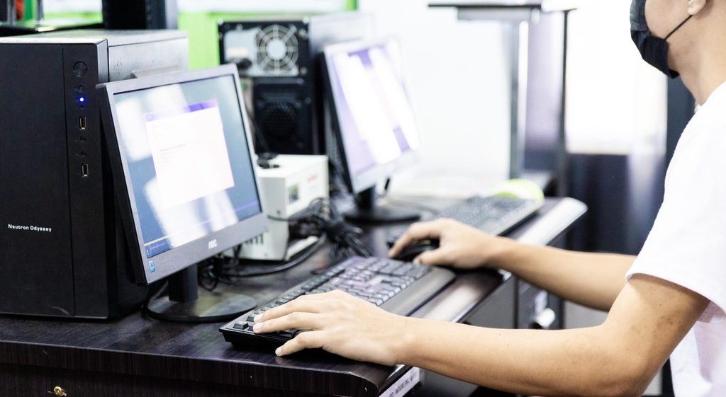
M 494 330 L 409 319 L 401 362 L 527 396 L 629 396 L 638 363 L 600 328 Z

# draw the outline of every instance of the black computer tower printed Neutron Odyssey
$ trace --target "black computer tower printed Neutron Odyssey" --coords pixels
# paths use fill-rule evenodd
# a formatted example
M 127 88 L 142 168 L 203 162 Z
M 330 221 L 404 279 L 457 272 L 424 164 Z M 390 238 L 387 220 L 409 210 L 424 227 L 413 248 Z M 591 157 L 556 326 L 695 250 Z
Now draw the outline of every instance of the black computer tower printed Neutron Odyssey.
M 0 38 L 0 313 L 116 317 L 131 277 L 98 83 L 187 69 L 174 30 Z

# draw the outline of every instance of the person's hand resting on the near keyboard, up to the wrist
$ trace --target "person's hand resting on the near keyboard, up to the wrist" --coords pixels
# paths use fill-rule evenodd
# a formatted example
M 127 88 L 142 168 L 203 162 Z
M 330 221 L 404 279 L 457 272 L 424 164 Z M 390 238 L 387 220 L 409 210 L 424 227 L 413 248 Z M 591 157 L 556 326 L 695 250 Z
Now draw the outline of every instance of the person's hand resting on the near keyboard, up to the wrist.
M 398 364 L 407 317 L 386 312 L 342 291 L 301 296 L 259 314 L 255 333 L 306 330 L 277 348 L 286 356 L 304 348 L 383 365 Z

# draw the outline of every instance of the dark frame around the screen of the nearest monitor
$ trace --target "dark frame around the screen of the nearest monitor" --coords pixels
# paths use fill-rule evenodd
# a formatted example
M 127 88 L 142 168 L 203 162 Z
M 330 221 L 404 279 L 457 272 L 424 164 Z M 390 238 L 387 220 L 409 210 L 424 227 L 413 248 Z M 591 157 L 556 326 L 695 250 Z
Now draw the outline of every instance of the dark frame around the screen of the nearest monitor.
M 131 188 L 129 165 L 126 162 L 126 156 L 122 156 L 122 151 L 125 150 L 123 139 L 117 133 L 120 128 L 115 111 L 114 96 L 118 93 L 140 91 L 149 88 L 161 87 L 163 85 L 185 83 L 195 80 L 208 80 L 220 77 L 232 77 L 234 80 L 235 91 L 237 93 L 237 103 L 240 106 L 240 112 L 242 114 L 242 128 L 245 129 L 250 167 L 252 167 L 253 170 L 253 177 L 257 188 L 257 196 L 261 212 L 237 222 L 234 225 L 206 235 L 203 238 L 197 238 L 194 241 L 190 241 L 189 243 L 185 243 L 179 247 L 171 248 L 161 254 L 152 256 L 152 259 L 150 259 L 144 249 L 139 213 L 136 206 L 131 205 L 131 203 L 135 203 L 136 200 L 134 197 L 134 191 Z M 127 241 L 129 241 L 131 264 L 134 269 L 136 283 L 142 285 L 150 284 L 164 277 L 168 277 L 169 275 L 173 275 L 174 273 L 186 269 L 197 262 L 226 251 L 227 249 L 248 241 L 268 230 L 268 220 L 264 204 L 260 198 L 260 183 L 254 164 L 255 154 L 250 135 L 250 122 L 245 110 L 244 97 L 242 96 L 242 91 L 240 89 L 237 67 L 232 64 L 226 64 L 220 67 L 195 70 L 192 72 L 175 72 L 147 78 L 121 80 L 113 83 L 99 84 L 97 85 L 97 89 L 103 93 L 102 99 L 104 103 L 102 104 L 101 112 L 104 127 L 103 136 L 105 138 L 105 146 L 107 147 L 109 154 L 110 168 L 113 175 L 113 185 L 115 194 L 119 201 L 121 220 L 124 225 Z M 154 271 L 152 271 L 150 265 L 148 265 L 150 262 L 153 262 Z

